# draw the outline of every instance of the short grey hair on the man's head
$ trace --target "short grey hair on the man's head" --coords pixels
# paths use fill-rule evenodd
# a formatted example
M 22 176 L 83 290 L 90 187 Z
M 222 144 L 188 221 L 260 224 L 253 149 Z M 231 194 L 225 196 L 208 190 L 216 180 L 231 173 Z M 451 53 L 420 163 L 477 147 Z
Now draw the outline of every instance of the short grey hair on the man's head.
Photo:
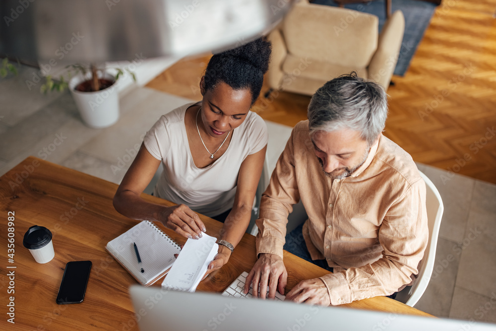
M 386 117 L 384 88 L 354 71 L 326 82 L 312 96 L 308 108 L 310 135 L 351 129 L 362 132 L 369 145 L 384 130 Z

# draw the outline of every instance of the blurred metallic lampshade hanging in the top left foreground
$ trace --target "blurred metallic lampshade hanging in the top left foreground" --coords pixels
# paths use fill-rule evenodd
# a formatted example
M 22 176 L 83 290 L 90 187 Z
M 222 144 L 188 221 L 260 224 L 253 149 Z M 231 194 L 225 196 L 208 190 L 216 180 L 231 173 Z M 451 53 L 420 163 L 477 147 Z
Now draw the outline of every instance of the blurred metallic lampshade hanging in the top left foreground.
M 106 62 L 184 56 L 248 42 L 295 0 L 2 0 L 0 54 Z

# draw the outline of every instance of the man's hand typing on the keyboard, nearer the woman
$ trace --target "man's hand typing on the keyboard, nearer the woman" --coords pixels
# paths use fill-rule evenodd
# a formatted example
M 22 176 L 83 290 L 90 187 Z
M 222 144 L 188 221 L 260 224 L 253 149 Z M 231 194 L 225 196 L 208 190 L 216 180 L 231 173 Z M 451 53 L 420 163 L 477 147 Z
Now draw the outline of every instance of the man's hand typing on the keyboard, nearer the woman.
M 284 294 L 287 279 L 288 272 L 281 257 L 275 254 L 262 253 L 248 273 L 245 293 L 248 293 L 249 285 L 252 284 L 253 296 L 258 297 L 258 289 L 260 288 L 260 298 L 265 299 L 268 285 L 268 298 L 273 299 L 276 295 L 276 289 L 279 289 L 279 293 Z

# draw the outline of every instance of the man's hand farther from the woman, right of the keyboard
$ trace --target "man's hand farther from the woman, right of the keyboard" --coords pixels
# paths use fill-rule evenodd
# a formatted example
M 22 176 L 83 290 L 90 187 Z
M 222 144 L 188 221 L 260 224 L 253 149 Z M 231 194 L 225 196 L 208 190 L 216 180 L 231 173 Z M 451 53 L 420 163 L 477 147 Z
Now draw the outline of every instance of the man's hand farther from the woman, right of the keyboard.
M 286 295 L 285 301 L 305 302 L 310 305 L 329 306 L 331 298 L 324 281 L 320 278 L 313 278 L 299 282 Z

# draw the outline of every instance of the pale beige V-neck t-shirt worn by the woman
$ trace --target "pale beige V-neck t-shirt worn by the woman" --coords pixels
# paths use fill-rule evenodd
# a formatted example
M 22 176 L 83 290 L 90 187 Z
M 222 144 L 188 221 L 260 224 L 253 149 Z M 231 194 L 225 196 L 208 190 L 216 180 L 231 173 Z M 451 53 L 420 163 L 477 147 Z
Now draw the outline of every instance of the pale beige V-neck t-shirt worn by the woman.
M 143 143 L 164 167 L 154 195 L 212 217 L 233 207 L 241 164 L 267 144 L 267 126 L 256 113 L 248 112 L 243 124 L 231 133 L 226 152 L 199 169 L 189 150 L 185 126 L 186 109 L 194 104 L 163 115 L 146 133 Z

